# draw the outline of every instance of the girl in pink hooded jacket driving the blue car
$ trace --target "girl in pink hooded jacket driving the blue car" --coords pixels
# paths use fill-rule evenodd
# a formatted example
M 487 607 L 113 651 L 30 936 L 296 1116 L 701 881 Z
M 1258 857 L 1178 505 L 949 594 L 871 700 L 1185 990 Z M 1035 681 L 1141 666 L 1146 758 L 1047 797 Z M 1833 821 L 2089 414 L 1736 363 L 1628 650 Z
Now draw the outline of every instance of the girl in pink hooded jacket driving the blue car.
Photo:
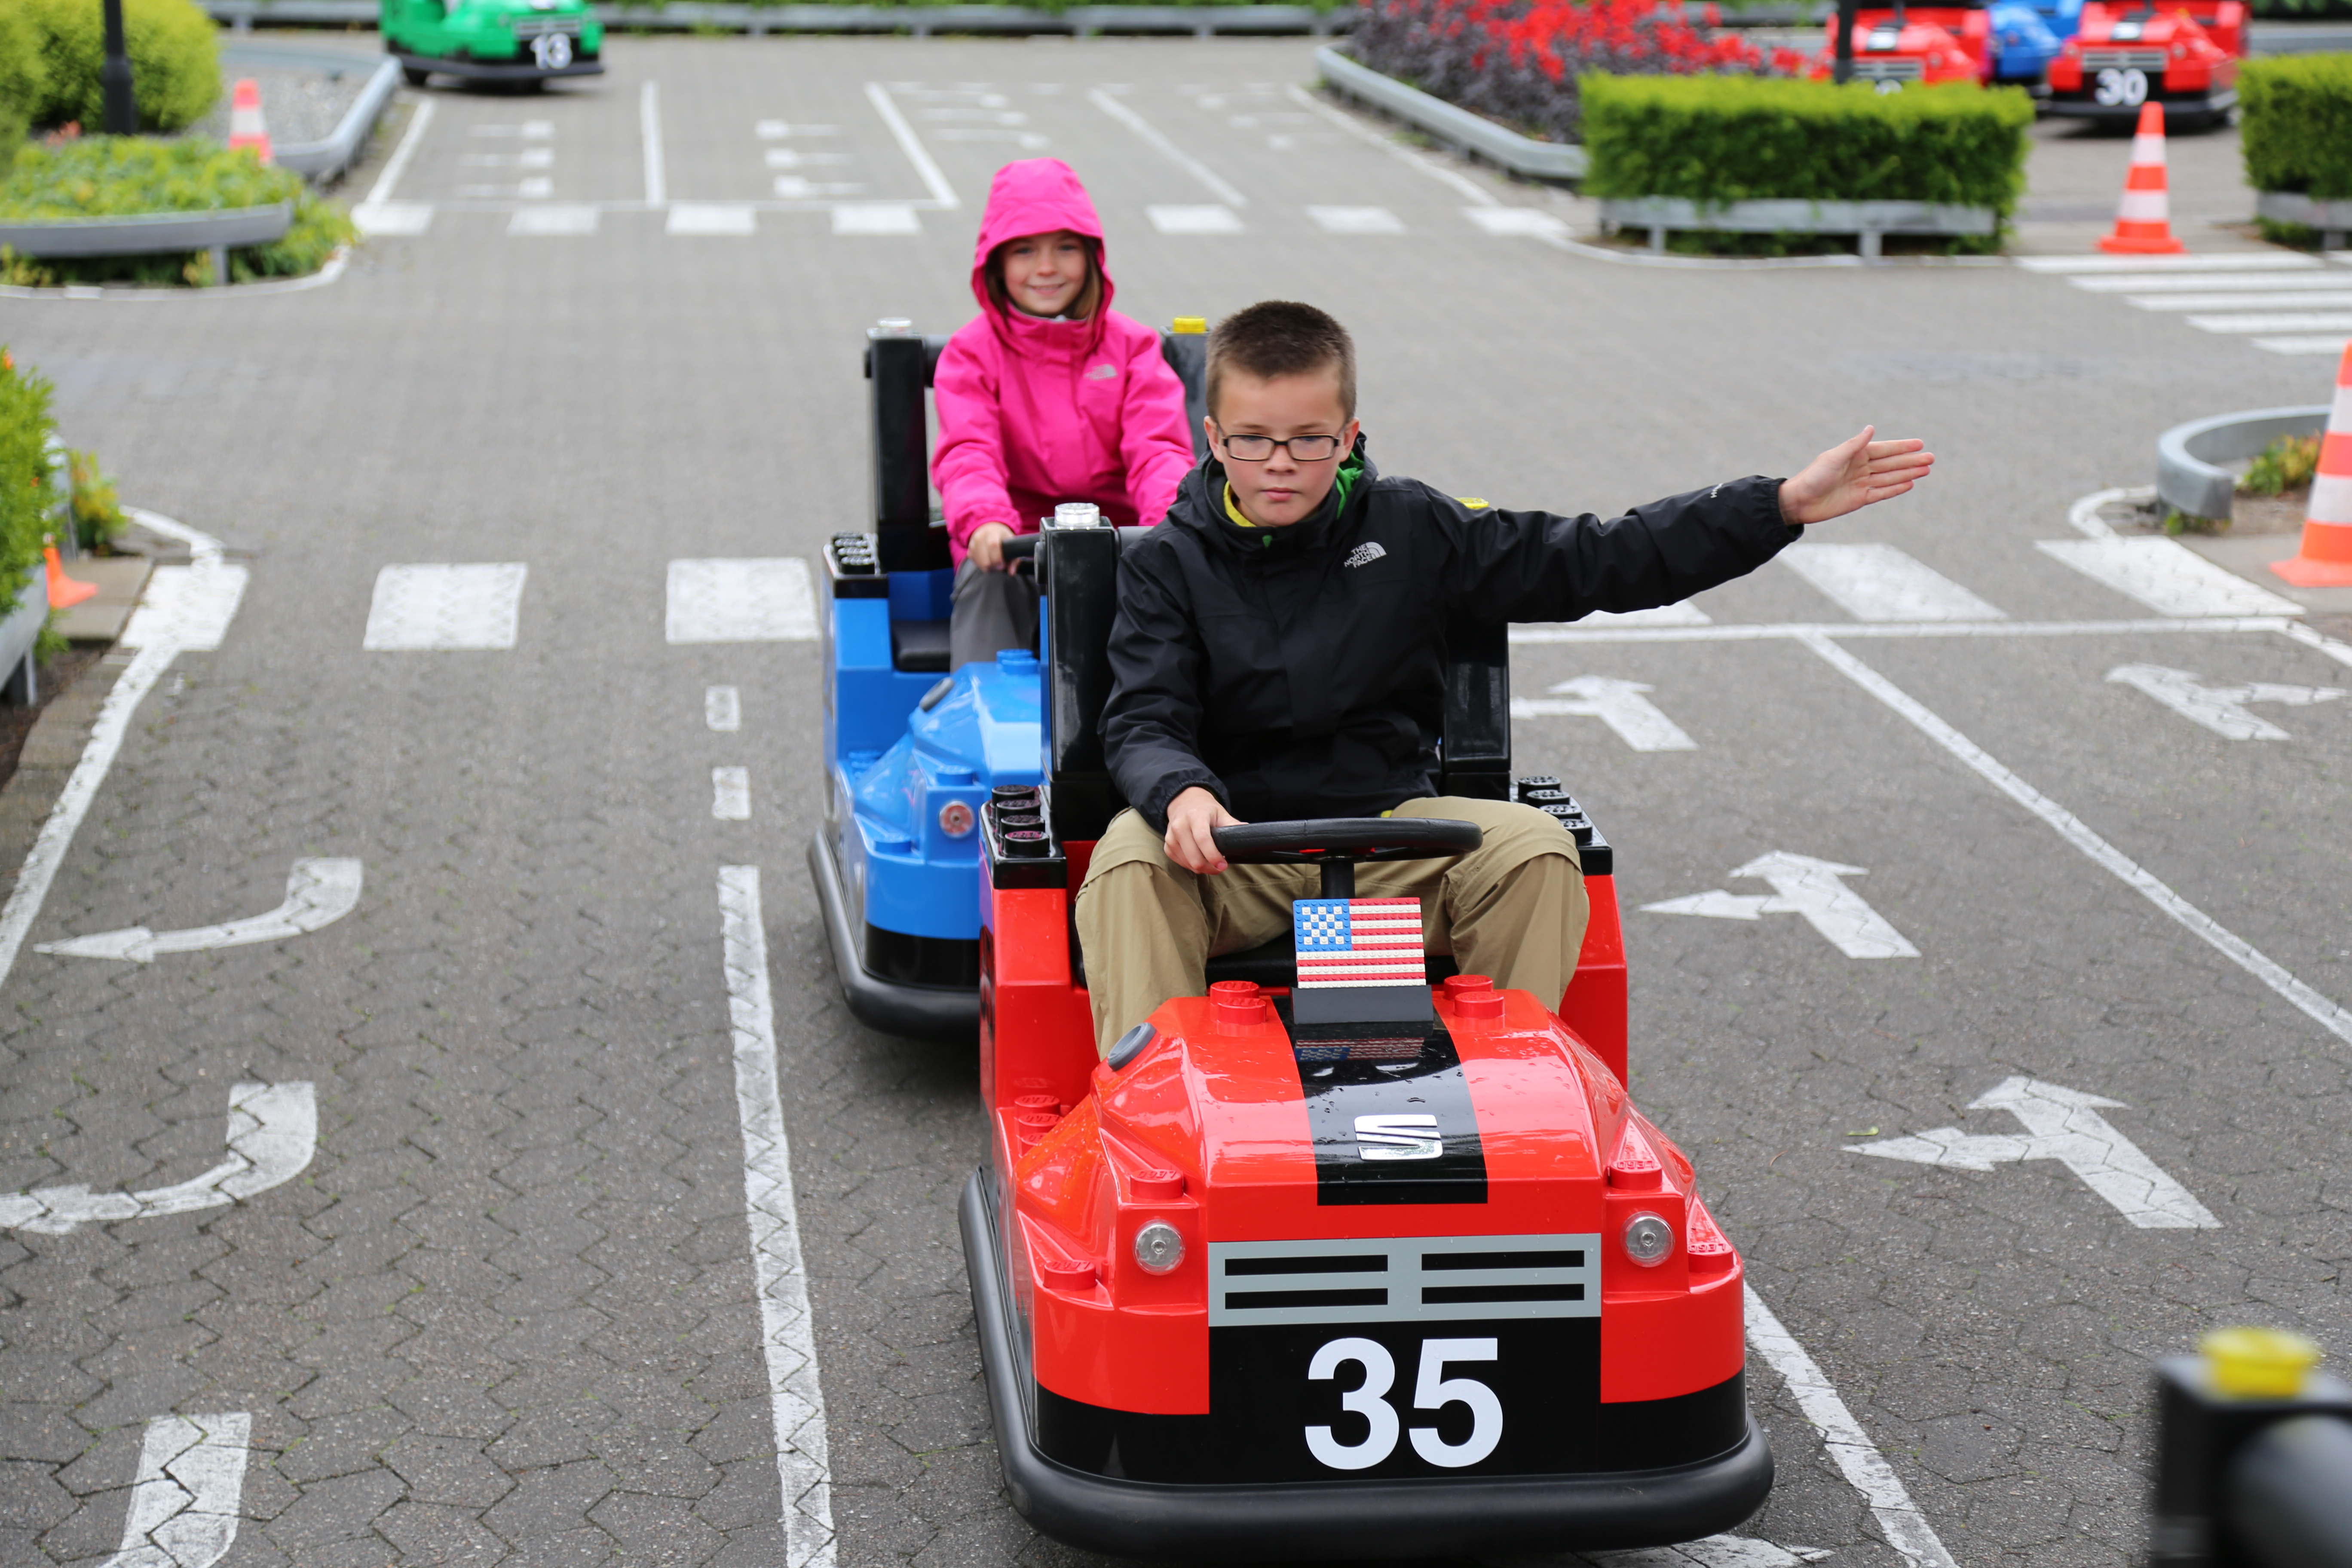
M 1110 308 L 1103 221 L 1058 158 L 997 169 L 971 259 L 981 315 L 938 355 L 931 480 L 948 512 L 948 668 L 1037 642 L 1037 581 L 1004 541 L 1061 501 L 1155 524 L 1192 468 L 1183 383 L 1160 334 Z

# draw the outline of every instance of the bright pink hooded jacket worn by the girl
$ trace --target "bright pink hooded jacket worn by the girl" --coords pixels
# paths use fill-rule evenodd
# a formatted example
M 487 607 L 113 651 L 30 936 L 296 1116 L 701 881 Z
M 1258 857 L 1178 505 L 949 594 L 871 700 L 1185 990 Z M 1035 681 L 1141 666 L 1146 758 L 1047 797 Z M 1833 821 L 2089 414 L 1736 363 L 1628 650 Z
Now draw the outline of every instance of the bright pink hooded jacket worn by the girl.
M 1040 320 L 988 299 L 988 254 L 1056 228 L 1094 240 L 1101 299 L 1084 322 Z M 931 480 L 957 564 L 983 522 L 1035 534 L 1058 501 L 1091 501 L 1108 522 L 1152 524 L 1192 468 L 1183 383 L 1160 334 L 1110 308 L 1103 221 L 1058 158 L 997 169 L 971 254 L 981 315 L 948 339 L 931 378 L 938 451 Z

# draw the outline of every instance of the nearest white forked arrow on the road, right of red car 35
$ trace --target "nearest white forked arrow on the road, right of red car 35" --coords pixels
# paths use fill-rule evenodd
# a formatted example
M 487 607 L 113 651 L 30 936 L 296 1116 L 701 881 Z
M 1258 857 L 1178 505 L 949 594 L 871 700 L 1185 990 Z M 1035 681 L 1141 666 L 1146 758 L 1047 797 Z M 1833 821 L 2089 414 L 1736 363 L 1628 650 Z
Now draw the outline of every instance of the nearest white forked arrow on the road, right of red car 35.
M 1915 1138 L 1849 1145 L 1853 1154 L 1910 1159 L 1922 1166 L 1959 1166 L 1990 1171 L 2018 1159 L 2056 1159 L 2079 1175 L 2091 1192 L 2114 1204 L 2117 1213 L 2140 1229 L 2220 1229 L 2190 1190 L 2169 1178 L 2138 1145 L 2107 1126 L 2100 1110 L 2122 1110 L 2122 1100 L 2103 1100 L 2079 1088 L 2060 1088 L 2034 1079 L 2004 1079 L 1969 1110 L 2006 1110 L 2025 1124 L 2025 1135 L 1992 1133 L 1971 1138 L 1957 1126 L 1938 1126 Z

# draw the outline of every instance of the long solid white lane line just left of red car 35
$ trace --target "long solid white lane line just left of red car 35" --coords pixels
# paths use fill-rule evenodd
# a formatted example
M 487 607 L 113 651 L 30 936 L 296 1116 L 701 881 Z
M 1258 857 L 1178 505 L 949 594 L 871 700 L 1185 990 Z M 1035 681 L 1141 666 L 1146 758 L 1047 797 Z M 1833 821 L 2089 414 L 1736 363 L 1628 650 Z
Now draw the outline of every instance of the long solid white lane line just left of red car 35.
M 833 1568 L 833 1465 L 826 1389 L 816 1375 L 809 1269 L 800 1258 L 793 1145 L 776 1088 L 776 1009 L 767 983 L 760 867 L 720 867 L 727 1013 L 734 1023 L 736 1117 L 743 1124 L 743 1208 L 760 1291 L 760 1349 L 776 1415 L 786 1568 Z

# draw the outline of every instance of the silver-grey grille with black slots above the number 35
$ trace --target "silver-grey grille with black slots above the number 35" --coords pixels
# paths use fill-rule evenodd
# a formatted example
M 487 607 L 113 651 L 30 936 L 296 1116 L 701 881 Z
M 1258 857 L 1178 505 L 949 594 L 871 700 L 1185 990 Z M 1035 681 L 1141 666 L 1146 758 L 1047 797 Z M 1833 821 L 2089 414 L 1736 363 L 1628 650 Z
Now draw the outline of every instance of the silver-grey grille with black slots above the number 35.
M 1209 1326 L 1599 1316 L 1602 1239 L 1211 1241 Z

